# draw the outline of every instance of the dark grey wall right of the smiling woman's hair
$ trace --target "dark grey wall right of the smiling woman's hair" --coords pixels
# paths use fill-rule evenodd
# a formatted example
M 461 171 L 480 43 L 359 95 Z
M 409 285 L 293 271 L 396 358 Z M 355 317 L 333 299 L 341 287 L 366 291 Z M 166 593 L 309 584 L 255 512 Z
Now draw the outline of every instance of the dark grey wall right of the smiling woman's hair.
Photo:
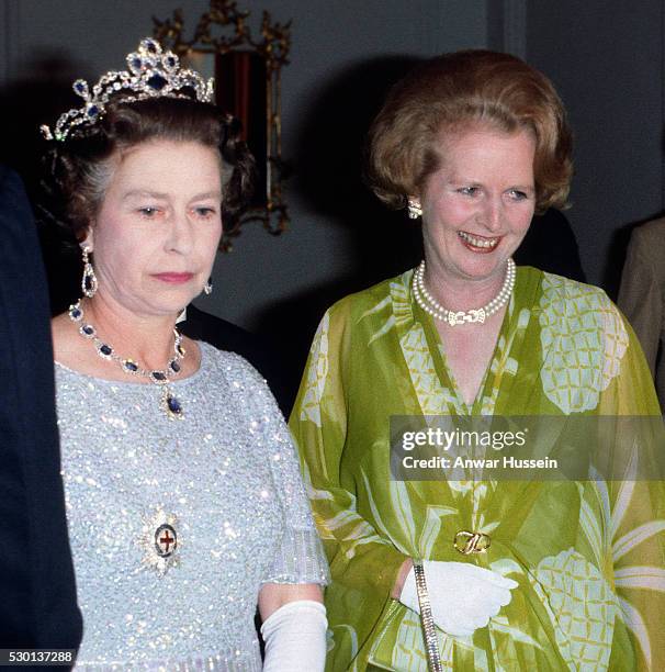
M 613 294 L 630 225 L 663 210 L 661 0 L 528 2 L 527 58 L 557 87 L 575 132 L 566 213 L 595 284 Z

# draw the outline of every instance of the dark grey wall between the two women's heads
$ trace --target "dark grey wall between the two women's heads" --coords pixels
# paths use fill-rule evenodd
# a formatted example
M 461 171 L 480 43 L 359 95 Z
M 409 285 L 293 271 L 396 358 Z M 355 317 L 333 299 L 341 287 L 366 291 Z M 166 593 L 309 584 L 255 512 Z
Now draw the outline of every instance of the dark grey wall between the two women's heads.
M 215 278 L 221 293 L 214 295 L 218 314 L 270 332 L 283 324 L 282 309 L 303 309 L 303 300 L 314 295 L 318 301 L 307 306 L 320 314 L 322 306 L 347 289 L 367 287 L 386 265 L 395 268 L 392 256 L 403 234 L 394 228 L 395 217 L 360 183 L 364 133 L 386 87 L 415 58 L 486 44 L 485 4 L 477 0 L 247 4 L 266 7 L 275 19 L 293 18 L 291 64 L 283 70 L 283 155 L 295 170 L 288 184 L 292 223 L 281 238 L 255 226 L 230 255 L 218 258 Z M 399 221 L 405 224 L 403 217 Z M 397 267 L 408 262 L 405 257 Z M 293 318 L 297 325 L 298 316 Z M 309 323 L 302 313 L 300 321 L 307 332 Z

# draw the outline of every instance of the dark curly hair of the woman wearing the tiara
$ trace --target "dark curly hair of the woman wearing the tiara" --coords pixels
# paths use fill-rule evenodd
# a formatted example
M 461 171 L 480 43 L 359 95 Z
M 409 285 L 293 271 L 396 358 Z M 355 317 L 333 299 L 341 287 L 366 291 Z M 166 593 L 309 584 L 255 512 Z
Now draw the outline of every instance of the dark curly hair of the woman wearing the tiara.
M 187 98 L 110 101 L 103 117 L 50 141 L 43 157 L 37 214 L 82 240 L 99 212 L 114 164 L 112 157 L 153 139 L 195 142 L 219 150 L 222 221 L 229 229 L 246 208 L 255 180 L 255 160 L 240 124 L 217 107 Z

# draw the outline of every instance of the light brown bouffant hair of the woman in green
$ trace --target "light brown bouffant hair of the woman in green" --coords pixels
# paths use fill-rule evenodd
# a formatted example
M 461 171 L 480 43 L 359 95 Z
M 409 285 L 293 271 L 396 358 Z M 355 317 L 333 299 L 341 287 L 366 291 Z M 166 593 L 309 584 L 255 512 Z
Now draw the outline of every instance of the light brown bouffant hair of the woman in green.
M 530 130 L 536 210 L 565 206 L 572 134 L 552 82 L 515 56 L 483 49 L 431 58 L 391 89 L 369 135 L 367 179 L 374 193 L 404 208 L 439 168 L 447 134 L 474 124 Z

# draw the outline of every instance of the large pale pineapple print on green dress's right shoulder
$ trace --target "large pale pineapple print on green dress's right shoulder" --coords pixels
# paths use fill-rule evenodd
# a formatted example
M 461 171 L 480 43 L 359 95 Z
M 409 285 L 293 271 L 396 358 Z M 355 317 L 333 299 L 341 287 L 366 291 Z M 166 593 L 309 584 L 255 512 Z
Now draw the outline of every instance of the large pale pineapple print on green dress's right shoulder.
M 543 392 L 565 414 L 596 408 L 628 347 L 623 320 L 597 288 L 543 273 L 542 290 Z

